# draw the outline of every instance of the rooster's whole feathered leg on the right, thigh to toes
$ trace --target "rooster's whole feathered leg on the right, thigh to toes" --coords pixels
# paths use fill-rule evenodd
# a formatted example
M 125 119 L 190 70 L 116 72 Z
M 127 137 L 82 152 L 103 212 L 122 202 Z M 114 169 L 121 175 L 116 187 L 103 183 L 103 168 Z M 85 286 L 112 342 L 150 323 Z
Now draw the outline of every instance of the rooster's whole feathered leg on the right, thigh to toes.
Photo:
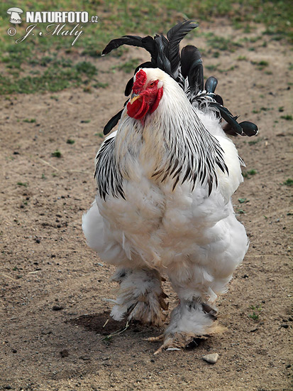
M 219 332 L 214 302 L 219 293 L 226 290 L 230 276 L 216 280 L 206 269 L 197 264 L 173 264 L 168 274 L 179 303 L 172 310 L 170 324 L 162 336 L 163 349 L 179 350 L 189 346 L 195 338 L 204 338 Z M 213 290 L 214 289 L 214 290 Z M 149 341 L 160 341 L 160 337 Z

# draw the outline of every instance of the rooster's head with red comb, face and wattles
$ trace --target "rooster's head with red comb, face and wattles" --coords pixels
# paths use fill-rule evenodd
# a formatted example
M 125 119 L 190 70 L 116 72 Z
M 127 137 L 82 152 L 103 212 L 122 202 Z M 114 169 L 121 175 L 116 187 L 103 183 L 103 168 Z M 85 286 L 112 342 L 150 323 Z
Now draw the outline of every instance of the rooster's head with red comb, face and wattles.
M 154 77 L 153 68 L 140 69 L 133 82 L 131 100 L 127 104 L 127 114 L 135 119 L 143 119 L 157 109 L 162 98 L 162 81 Z

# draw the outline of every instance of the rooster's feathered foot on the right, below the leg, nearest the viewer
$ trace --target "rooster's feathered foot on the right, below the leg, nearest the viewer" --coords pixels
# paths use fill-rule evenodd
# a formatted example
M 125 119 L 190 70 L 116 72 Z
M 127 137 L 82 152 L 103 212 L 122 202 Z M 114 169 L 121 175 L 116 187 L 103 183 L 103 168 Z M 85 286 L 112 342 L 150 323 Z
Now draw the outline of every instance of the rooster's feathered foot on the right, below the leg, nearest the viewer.
M 198 299 L 194 301 L 181 301 L 173 309 L 170 325 L 165 333 L 155 338 L 148 338 L 150 342 L 164 341 L 154 354 L 162 350 L 180 350 L 189 346 L 194 340 L 206 339 L 209 335 L 216 333 L 216 310 L 209 304 L 201 303 Z

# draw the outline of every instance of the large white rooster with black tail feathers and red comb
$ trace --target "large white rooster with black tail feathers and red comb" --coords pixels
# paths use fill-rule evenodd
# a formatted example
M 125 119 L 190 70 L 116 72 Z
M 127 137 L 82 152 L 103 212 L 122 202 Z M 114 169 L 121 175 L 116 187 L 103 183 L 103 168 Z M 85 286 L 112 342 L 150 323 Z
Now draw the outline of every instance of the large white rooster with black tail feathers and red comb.
M 231 195 L 243 181 L 236 147 L 226 134 L 253 136 L 251 122 L 238 124 L 204 87 L 199 50 L 182 38 L 197 27 L 183 21 L 165 36 L 124 36 L 111 41 L 148 50 L 126 85 L 124 108 L 104 128 L 96 155 L 98 191 L 83 216 L 89 247 L 116 265 L 120 284 L 111 316 L 162 326 L 167 317 L 161 274 L 179 298 L 162 349 L 187 347 L 217 331 L 216 298 L 227 291 L 248 250 L 245 228 L 236 219 Z

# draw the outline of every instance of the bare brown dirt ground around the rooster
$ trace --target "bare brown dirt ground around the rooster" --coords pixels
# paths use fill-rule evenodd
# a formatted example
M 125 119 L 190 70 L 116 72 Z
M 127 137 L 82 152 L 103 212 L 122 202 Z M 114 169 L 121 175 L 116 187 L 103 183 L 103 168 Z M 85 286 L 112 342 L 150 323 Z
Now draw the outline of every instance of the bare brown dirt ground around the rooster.
M 218 30 L 209 26 L 234 40 L 260 36 L 263 30 L 243 34 L 225 23 Z M 192 43 L 207 49 L 203 37 Z M 284 181 L 292 177 L 292 121 L 281 118 L 292 114 L 290 49 L 263 36 L 219 58 L 206 50 L 204 65 L 234 66 L 227 72 L 205 71 L 219 78 L 217 92 L 226 107 L 260 129 L 254 139 L 234 139 L 247 165 L 243 171 L 256 170 L 233 196 L 250 249 L 218 302 L 223 335 L 194 349 L 155 356 L 158 344 L 144 340 L 159 335 L 155 328 L 133 325 L 107 337 L 125 326 L 110 321 L 103 328 L 111 309 L 104 298 L 114 298 L 116 288 L 109 282 L 114 268 L 87 247 L 81 228 L 82 213 L 96 191 L 99 134 L 121 109 L 130 77 L 111 67 L 148 55 L 133 48 L 122 58 L 92 60 L 99 79 L 109 83 L 92 93 L 76 89 L 1 97 L 0 390 L 291 390 L 292 210 Z M 260 61 L 268 63 L 265 69 L 253 64 Z M 52 156 L 56 149 L 60 159 Z M 172 309 L 176 296 L 169 282 L 164 289 Z M 219 353 L 215 365 L 202 360 L 207 353 Z

